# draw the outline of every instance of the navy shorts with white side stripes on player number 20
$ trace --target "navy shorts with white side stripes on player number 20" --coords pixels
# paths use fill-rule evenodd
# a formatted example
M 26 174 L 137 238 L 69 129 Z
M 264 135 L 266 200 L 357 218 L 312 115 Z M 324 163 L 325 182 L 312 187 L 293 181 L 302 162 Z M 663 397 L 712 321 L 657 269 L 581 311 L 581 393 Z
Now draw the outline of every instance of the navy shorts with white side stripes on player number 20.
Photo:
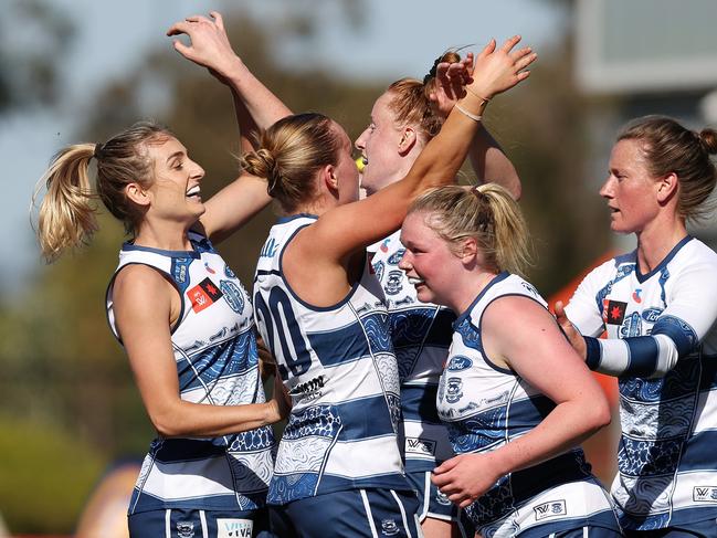
M 422 536 L 414 492 L 349 489 L 270 506 L 272 531 L 281 538 L 415 538 Z

